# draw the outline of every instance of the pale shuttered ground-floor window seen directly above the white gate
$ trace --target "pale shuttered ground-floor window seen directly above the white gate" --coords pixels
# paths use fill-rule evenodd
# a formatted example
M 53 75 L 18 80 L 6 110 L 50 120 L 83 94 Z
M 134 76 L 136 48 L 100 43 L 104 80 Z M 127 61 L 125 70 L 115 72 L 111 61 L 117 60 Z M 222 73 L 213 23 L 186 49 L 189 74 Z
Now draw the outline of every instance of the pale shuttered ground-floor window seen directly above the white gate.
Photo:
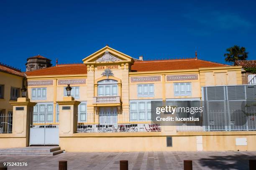
M 33 108 L 33 122 L 53 122 L 53 103 L 37 103 Z

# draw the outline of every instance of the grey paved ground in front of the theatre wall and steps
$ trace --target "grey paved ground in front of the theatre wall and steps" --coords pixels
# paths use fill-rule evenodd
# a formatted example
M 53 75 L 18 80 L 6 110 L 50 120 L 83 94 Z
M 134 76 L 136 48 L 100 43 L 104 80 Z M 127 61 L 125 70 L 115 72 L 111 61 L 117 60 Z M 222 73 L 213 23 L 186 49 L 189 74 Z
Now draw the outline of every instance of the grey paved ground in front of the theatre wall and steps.
M 119 160 L 129 161 L 129 170 L 183 170 L 183 160 L 193 160 L 193 170 L 247 170 L 256 152 L 131 152 L 74 153 L 54 157 L 0 157 L 0 162 L 27 162 L 27 167 L 8 170 L 58 170 L 59 160 L 68 170 L 119 170 Z

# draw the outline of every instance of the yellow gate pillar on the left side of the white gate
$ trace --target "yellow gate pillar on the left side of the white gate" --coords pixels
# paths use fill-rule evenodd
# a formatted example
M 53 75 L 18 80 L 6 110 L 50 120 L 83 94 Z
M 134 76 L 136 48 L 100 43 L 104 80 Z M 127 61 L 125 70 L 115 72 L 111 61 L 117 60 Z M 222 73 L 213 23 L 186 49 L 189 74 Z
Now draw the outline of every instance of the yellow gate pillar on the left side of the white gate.
M 19 97 L 17 102 L 10 102 L 13 105 L 13 132 L 14 137 L 26 138 L 26 146 L 29 145 L 29 129 L 33 106 L 35 102 L 30 99 Z

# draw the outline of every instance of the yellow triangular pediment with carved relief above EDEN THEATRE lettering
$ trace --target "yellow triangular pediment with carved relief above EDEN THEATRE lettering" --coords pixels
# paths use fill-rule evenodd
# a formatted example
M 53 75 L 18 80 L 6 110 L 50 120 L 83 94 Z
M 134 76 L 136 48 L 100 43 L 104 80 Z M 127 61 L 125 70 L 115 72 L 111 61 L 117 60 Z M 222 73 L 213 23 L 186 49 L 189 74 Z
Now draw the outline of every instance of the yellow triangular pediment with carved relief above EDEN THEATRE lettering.
M 109 46 L 96 51 L 83 59 L 84 64 L 108 62 L 133 62 L 133 58 Z

